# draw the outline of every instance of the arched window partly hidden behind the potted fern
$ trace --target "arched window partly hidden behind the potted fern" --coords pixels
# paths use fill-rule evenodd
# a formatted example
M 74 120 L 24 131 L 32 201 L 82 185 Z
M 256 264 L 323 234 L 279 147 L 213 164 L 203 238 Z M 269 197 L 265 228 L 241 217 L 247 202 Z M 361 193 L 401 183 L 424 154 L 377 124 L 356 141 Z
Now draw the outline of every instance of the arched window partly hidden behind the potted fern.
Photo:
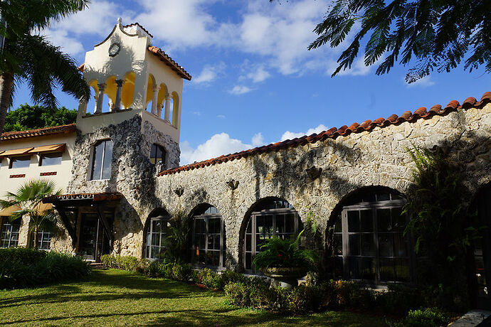
M 302 230 L 297 210 L 280 198 L 260 200 L 250 213 L 245 225 L 243 265 L 246 272 L 253 270 L 253 258 L 261 245 L 271 237 L 295 238 Z

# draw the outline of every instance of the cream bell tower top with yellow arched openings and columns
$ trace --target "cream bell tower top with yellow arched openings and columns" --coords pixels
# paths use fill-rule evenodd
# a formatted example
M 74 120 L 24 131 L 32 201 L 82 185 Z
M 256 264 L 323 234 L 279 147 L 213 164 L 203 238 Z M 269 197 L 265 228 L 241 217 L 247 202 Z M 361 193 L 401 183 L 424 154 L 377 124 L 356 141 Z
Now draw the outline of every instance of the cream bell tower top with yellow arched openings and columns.
M 93 133 L 134 116 L 179 144 L 183 80 L 191 75 L 152 44 L 139 23 L 123 26 L 121 18 L 104 41 L 85 54 L 80 66 L 93 101 L 80 102 L 77 128 Z M 88 103 L 93 103 L 88 107 Z

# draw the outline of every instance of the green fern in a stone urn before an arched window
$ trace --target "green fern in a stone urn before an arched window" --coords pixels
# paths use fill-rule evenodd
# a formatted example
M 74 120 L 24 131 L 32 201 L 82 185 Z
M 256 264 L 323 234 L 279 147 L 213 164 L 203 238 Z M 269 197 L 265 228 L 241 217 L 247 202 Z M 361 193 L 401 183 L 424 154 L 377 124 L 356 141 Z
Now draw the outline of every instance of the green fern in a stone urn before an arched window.
M 302 230 L 302 232 L 304 232 Z M 277 279 L 282 287 L 291 288 L 297 279 L 304 277 L 310 264 L 317 261 L 317 253 L 313 250 L 300 250 L 296 240 L 270 238 L 261 245 L 261 252 L 255 255 L 254 269 L 260 269 L 268 277 Z

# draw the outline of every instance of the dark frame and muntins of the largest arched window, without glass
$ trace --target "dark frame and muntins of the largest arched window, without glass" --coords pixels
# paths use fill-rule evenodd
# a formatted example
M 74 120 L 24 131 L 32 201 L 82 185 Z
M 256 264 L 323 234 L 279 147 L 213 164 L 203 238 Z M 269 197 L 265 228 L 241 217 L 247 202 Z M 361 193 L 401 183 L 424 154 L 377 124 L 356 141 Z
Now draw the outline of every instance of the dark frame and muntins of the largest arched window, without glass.
M 367 192 L 368 193 L 368 192 Z M 375 195 L 378 195 L 379 192 L 372 192 L 375 193 Z M 380 209 L 401 209 L 403 205 L 407 203 L 406 200 L 401 198 L 399 195 L 397 195 L 394 192 L 389 192 L 391 195 L 391 198 L 389 200 L 374 200 L 374 201 L 364 201 L 364 202 L 359 202 L 359 203 L 353 203 L 351 205 L 344 205 L 341 208 L 341 213 L 340 217 L 337 217 L 337 221 L 334 223 L 334 232 L 333 232 L 333 237 L 332 240 L 335 242 L 335 235 L 342 235 L 342 243 L 341 243 L 341 248 L 342 248 L 342 253 L 341 254 L 336 254 L 333 253 L 332 257 L 335 260 L 335 258 L 342 258 L 342 278 L 343 279 L 348 279 L 352 280 L 355 282 L 361 282 L 364 284 L 374 284 L 374 285 L 387 285 L 387 284 L 413 284 L 415 282 L 415 273 L 414 273 L 414 262 L 416 262 L 414 253 L 411 251 L 413 249 L 413 238 L 411 235 L 406 235 L 405 237 L 403 236 L 403 240 L 405 240 L 406 244 L 406 251 L 407 255 L 406 256 L 398 256 L 396 253 L 392 253 L 391 256 L 382 256 L 380 255 L 380 242 L 379 242 L 379 234 L 391 234 L 391 235 L 396 235 L 398 233 L 403 233 L 403 232 L 398 232 L 398 231 L 391 231 L 391 232 L 386 232 L 386 231 L 379 231 L 378 224 L 379 224 L 379 215 L 377 213 L 377 210 Z M 393 195 L 398 197 L 396 199 L 392 199 Z M 372 218 L 372 231 L 371 232 L 363 232 L 361 231 L 361 227 L 358 232 L 349 232 L 349 223 L 348 223 L 348 212 L 349 211 L 358 211 L 361 214 L 361 211 L 364 210 L 371 210 L 371 218 Z M 392 217 L 392 216 L 391 216 Z M 409 215 L 405 214 L 406 217 L 406 225 L 409 223 L 410 217 Z M 339 218 L 341 221 L 339 221 Z M 360 224 L 361 224 L 361 217 L 359 218 Z M 341 232 L 336 232 L 335 225 L 341 223 L 342 228 Z M 352 252 L 349 250 L 349 235 L 361 235 L 362 234 L 371 234 L 373 235 L 374 239 L 374 250 L 375 254 L 374 255 L 365 255 L 362 254 L 362 249 L 361 249 L 361 240 L 360 240 L 360 253 L 357 255 L 352 255 Z M 394 243 L 395 240 L 394 238 L 392 239 L 392 246 L 394 250 Z M 336 250 L 336 247 L 334 245 L 333 250 Z M 375 267 L 375 277 L 374 279 L 363 279 L 363 278 L 352 278 L 350 277 L 350 267 L 349 267 L 349 257 L 359 257 L 360 259 L 363 258 L 373 258 L 374 259 L 374 267 Z M 396 268 L 394 265 L 394 280 L 389 280 L 389 281 L 382 281 L 381 280 L 381 259 L 406 259 L 408 262 L 408 270 L 409 270 L 409 281 L 408 282 L 400 282 L 396 281 Z M 334 272 L 336 272 L 337 269 L 334 267 Z

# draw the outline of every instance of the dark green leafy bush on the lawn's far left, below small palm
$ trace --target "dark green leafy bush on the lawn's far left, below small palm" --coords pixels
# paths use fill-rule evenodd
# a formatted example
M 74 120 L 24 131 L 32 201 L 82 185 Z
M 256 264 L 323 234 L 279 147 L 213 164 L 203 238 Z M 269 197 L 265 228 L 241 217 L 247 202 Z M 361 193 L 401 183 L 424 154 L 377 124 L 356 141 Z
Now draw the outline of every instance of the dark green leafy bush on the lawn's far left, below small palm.
M 22 250 L 14 252 L 16 254 L 28 253 Z M 43 254 L 28 253 L 28 256 L 24 257 L 17 255 L 15 259 L 0 262 L 0 289 L 19 289 L 59 283 L 70 279 L 80 279 L 90 274 L 90 265 L 81 257 L 54 251 L 39 252 Z M 27 257 L 33 257 L 36 260 L 28 262 Z

